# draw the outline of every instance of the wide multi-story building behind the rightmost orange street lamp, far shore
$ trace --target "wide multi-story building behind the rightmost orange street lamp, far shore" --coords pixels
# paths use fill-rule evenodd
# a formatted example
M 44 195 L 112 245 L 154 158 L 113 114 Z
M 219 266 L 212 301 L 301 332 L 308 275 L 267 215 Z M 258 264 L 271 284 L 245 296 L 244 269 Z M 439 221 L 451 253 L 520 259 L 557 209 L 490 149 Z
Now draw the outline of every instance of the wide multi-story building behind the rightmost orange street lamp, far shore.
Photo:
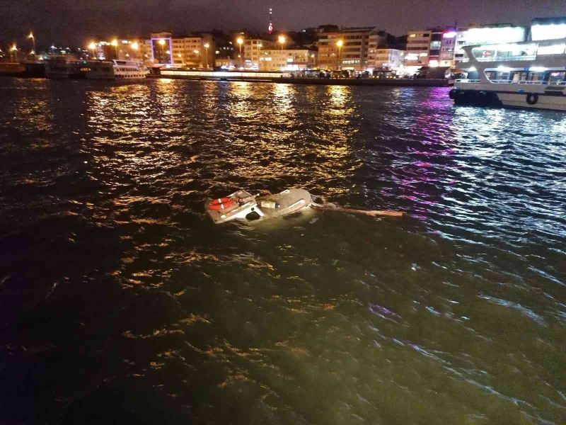
M 375 27 L 342 28 L 319 33 L 318 66 L 324 69 L 366 69 L 370 36 L 373 34 Z

